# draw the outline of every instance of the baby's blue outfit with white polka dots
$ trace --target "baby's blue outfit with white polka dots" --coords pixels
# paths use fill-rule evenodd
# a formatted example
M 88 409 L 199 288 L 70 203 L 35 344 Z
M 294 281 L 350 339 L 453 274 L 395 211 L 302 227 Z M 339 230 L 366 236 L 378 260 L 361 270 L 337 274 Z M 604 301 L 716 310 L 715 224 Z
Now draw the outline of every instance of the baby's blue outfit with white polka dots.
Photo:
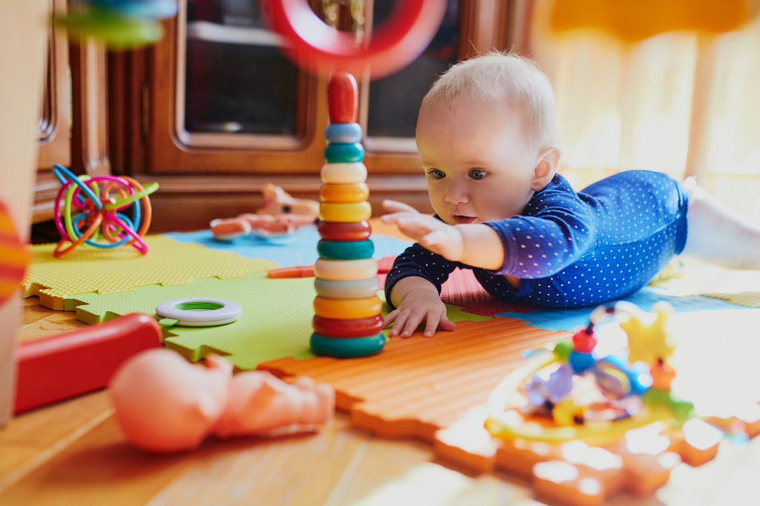
M 483 288 L 505 302 L 591 306 L 638 291 L 686 244 L 686 190 L 667 174 L 625 171 L 579 193 L 557 174 L 522 215 L 486 222 L 502 240 L 498 271 L 451 262 L 419 244 L 394 262 L 394 284 L 420 276 L 441 291 L 456 268 L 472 269 Z M 520 278 L 518 287 L 505 275 Z

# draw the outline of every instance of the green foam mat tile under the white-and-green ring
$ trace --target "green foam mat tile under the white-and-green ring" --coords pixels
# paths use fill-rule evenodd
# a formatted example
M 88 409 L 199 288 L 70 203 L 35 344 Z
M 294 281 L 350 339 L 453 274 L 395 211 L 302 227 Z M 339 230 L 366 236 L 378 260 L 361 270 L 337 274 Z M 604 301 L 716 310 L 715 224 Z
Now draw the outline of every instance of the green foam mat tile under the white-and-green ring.
M 379 295 L 382 297 L 382 292 Z M 239 369 L 255 369 L 269 360 L 314 357 L 309 348 L 314 278 L 272 279 L 265 272 L 255 272 L 245 278 L 207 278 L 179 286 L 152 285 L 115 294 L 79 294 L 70 302 L 77 306 L 78 319 L 94 324 L 133 312 L 155 315 L 159 303 L 186 297 L 231 300 L 242 309 L 242 316 L 228 325 L 169 327 L 166 346 L 188 360 L 200 360 L 213 351 Z M 384 304 L 383 313 L 387 312 L 388 306 Z M 454 322 L 492 319 L 464 313 L 455 306 L 448 306 L 448 317 Z

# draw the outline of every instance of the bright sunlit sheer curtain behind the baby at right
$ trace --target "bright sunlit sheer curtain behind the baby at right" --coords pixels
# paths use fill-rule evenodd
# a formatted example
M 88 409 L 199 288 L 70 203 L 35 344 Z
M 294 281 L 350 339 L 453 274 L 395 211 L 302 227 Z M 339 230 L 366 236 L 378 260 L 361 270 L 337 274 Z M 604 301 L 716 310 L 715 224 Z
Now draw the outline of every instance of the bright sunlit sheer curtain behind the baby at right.
M 554 84 L 562 172 L 572 183 L 632 168 L 695 175 L 760 222 L 760 20 L 717 36 L 623 43 L 550 32 L 550 3 L 527 2 L 525 43 L 515 49 Z

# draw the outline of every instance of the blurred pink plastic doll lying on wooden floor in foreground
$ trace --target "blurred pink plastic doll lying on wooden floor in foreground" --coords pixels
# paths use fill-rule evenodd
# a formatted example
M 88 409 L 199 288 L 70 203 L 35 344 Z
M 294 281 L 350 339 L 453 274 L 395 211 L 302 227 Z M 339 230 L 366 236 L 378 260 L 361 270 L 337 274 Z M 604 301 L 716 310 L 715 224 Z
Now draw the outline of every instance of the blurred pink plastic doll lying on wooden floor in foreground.
M 210 435 L 312 432 L 332 420 L 335 391 L 326 383 L 302 377 L 290 384 L 262 371 L 233 376 L 233 364 L 214 354 L 205 364 L 162 348 L 131 358 L 116 372 L 111 399 L 132 445 L 186 451 Z

